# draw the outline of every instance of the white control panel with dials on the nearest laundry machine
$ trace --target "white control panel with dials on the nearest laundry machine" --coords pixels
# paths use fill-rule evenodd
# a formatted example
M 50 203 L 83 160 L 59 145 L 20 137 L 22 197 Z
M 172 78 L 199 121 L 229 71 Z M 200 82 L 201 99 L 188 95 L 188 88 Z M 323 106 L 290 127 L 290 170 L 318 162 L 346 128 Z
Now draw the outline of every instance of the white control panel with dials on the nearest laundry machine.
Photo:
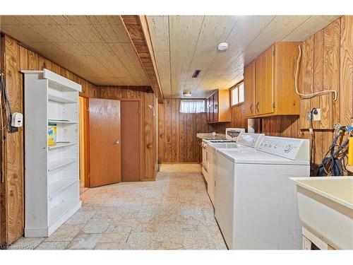
M 309 140 L 264 136 L 258 150 L 292 160 L 309 160 Z

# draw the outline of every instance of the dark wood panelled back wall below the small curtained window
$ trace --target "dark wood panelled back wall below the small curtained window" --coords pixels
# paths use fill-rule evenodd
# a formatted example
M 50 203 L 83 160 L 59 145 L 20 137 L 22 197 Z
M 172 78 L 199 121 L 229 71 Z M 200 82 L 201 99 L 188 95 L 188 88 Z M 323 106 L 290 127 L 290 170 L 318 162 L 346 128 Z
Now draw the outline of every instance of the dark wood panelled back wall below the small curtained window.
M 225 134 L 230 124 L 208 124 L 206 113 L 180 113 L 178 98 L 158 104 L 158 163 L 197 162 L 196 134 L 216 131 Z

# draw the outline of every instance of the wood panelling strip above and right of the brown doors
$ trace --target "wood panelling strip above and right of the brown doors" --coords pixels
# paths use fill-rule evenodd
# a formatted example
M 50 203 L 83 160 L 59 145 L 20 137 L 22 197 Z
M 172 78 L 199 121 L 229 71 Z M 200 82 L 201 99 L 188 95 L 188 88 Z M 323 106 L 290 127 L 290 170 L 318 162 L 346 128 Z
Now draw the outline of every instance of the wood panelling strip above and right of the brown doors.
M 119 100 L 122 98 L 140 98 L 143 119 L 143 157 L 142 167 L 144 177 L 141 180 L 154 180 L 157 174 L 157 115 L 148 107 L 152 105 L 157 110 L 157 98 L 149 86 L 100 86 L 100 98 Z

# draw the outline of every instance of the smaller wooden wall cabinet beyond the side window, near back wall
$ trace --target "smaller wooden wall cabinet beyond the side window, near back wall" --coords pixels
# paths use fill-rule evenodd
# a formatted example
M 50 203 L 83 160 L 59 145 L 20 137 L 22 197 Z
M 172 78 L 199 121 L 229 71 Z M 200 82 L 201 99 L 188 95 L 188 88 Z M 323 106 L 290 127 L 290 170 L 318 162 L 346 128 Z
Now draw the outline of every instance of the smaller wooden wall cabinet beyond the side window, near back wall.
M 231 122 L 230 91 L 215 90 L 206 99 L 207 122 Z

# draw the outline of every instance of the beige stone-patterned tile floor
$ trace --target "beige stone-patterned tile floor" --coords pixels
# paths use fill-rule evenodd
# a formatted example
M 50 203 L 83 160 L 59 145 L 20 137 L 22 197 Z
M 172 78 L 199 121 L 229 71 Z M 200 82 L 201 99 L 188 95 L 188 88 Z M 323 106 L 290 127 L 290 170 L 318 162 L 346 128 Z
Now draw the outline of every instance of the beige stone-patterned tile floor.
M 50 237 L 10 249 L 226 249 L 200 166 L 162 165 L 155 182 L 88 189 Z

